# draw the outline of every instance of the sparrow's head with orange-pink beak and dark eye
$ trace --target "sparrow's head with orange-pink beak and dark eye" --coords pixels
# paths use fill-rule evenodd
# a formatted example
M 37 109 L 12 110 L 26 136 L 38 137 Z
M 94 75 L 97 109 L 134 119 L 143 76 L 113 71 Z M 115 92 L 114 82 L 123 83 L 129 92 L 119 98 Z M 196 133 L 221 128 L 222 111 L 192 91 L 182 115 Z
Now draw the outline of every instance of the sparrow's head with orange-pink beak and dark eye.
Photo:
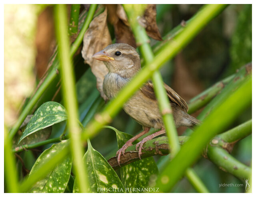
M 141 69 L 136 49 L 124 43 L 108 45 L 92 58 L 103 61 L 110 73 L 117 73 L 125 78 L 133 77 Z

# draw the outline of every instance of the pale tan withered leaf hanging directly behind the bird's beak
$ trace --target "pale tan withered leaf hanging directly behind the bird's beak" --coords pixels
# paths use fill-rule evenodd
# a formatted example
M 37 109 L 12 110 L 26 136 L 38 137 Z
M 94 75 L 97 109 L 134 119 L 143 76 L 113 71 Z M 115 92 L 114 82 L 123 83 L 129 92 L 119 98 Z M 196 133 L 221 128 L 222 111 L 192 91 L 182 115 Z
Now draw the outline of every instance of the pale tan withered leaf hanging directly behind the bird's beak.
M 93 59 L 92 55 L 110 44 L 111 37 L 107 26 L 107 9 L 105 9 L 102 14 L 95 17 L 90 23 L 88 30 L 84 34 L 82 49 L 84 62 L 90 65 L 92 73 L 97 80 L 97 89 L 104 100 L 108 100 L 102 89 L 104 76 L 108 73 L 108 69 L 102 61 Z

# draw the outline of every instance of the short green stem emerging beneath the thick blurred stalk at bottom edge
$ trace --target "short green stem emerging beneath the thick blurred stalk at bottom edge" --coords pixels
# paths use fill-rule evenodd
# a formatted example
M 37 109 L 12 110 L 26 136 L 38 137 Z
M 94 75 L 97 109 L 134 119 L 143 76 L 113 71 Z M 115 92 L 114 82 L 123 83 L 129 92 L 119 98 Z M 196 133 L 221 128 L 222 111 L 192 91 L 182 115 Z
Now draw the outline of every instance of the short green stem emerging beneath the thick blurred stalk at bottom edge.
M 210 191 L 207 189 L 207 187 L 204 185 L 200 177 L 196 174 L 194 169 L 187 168 L 185 171 L 185 175 L 188 179 L 188 181 L 193 185 L 193 187 L 198 191 L 199 193 L 210 193 Z

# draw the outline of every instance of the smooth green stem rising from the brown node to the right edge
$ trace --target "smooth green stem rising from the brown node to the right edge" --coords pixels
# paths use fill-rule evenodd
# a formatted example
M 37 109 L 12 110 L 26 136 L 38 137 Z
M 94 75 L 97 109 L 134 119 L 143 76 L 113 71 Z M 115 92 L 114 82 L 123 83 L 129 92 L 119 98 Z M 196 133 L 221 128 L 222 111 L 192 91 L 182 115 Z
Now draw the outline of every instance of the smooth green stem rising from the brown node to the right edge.
M 252 133 L 252 119 L 244 122 L 232 128 L 222 134 L 219 134 L 218 137 L 224 140 L 225 142 L 236 142 L 240 139 L 245 138 L 246 136 Z

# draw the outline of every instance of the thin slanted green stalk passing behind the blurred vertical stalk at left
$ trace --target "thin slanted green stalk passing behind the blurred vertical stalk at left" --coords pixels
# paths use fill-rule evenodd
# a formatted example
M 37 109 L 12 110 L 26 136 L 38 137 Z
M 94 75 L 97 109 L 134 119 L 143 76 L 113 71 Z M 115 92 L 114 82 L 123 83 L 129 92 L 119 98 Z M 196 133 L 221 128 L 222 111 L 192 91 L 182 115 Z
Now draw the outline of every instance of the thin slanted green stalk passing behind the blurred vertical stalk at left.
M 94 12 L 96 10 L 96 7 L 97 6 L 95 4 L 92 4 L 90 6 L 90 9 L 88 11 L 88 15 L 87 15 L 86 20 L 84 22 L 84 25 L 83 25 L 78 37 L 76 38 L 76 40 L 74 41 L 74 43 L 72 44 L 72 46 L 70 48 L 70 55 L 71 56 L 74 55 L 74 53 L 77 51 L 78 47 L 82 43 L 84 33 L 87 30 L 90 22 L 92 21 Z M 56 69 L 58 69 L 58 67 L 59 67 L 59 64 L 56 64 L 56 67 L 50 71 L 50 73 L 47 75 L 47 77 L 45 78 L 42 85 L 40 85 L 40 87 L 38 88 L 38 90 L 36 91 L 34 96 L 30 99 L 30 101 L 28 102 L 26 107 L 22 110 L 18 120 L 15 122 L 14 126 L 10 130 L 10 133 L 9 133 L 9 136 L 8 136 L 10 139 L 13 138 L 13 136 L 16 134 L 16 132 L 20 128 L 20 125 L 25 120 L 26 116 L 29 114 L 30 110 L 32 110 L 33 106 L 40 99 L 40 97 L 42 96 L 44 91 L 48 88 L 48 86 L 52 83 L 52 81 L 58 75 L 58 73 L 56 72 Z

